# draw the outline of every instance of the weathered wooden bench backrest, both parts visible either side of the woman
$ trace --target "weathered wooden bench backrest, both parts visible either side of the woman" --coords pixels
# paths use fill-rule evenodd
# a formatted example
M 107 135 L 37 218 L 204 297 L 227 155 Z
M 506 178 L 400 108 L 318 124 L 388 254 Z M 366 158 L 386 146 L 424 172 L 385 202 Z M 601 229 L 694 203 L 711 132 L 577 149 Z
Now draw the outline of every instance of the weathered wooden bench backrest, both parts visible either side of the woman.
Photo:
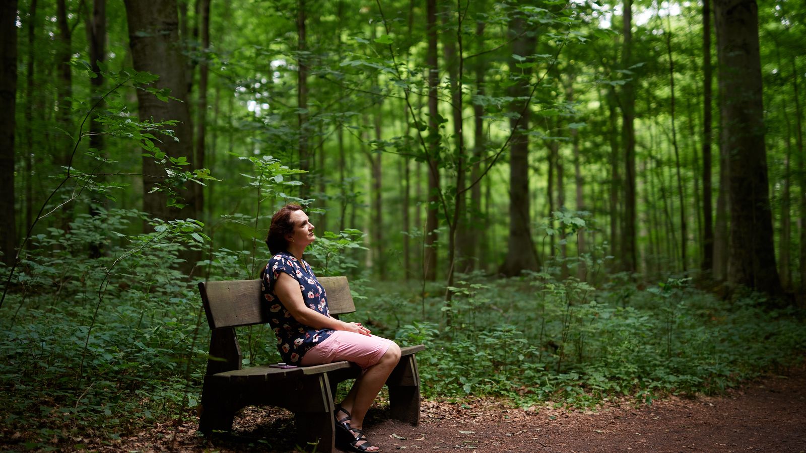
M 346 276 L 317 279 L 327 295 L 330 314 L 352 313 L 355 304 Z M 207 281 L 199 283 L 210 329 L 251 326 L 268 322 L 268 303 L 260 294 L 260 280 Z

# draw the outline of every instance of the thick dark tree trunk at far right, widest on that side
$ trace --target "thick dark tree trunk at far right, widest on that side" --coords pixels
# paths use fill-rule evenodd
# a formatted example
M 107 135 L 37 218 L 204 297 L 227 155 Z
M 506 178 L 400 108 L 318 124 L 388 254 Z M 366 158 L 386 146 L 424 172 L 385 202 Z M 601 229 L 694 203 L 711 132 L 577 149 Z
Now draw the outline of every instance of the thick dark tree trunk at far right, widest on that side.
M 758 6 L 754 0 L 714 0 L 719 36 L 722 147 L 729 154 L 728 281 L 779 296 L 764 143 Z

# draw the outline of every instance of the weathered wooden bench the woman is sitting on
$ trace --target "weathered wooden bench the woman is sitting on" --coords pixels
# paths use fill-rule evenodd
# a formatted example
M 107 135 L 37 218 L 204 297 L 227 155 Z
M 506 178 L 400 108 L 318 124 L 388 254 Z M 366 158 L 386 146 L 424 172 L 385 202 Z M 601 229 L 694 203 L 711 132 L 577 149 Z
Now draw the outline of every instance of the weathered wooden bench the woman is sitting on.
M 355 305 L 347 277 L 320 277 L 327 294 L 330 315 L 352 313 Z M 261 303 L 260 280 L 199 283 L 207 322 L 210 324 L 210 359 L 202 388 L 199 430 L 232 429 L 235 413 L 247 405 L 272 405 L 289 409 L 297 426 L 300 447 L 315 444 L 316 451 L 334 451 L 334 396 L 339 382 L 359 376 L 350 362 L 300 368 L 241 366 L 241 350 L 235 327 L 268 322 L 268 305 Z M 268 331 L 267 342 L 274 345 Z M 401 347 L 400 363 L 388 377 L 392 418 L 417 426 L 420 417 L 420 376 L 414 354 L 425 346 Z

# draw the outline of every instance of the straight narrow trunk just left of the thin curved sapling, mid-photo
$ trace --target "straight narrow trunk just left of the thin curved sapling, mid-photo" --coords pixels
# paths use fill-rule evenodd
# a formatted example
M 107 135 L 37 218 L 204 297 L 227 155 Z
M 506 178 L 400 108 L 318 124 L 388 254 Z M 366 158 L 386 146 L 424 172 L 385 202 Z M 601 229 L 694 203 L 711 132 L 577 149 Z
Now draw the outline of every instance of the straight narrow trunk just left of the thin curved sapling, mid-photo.
M 439 67 L 437 65 L 437 2 L 428 0 L 426 4 L 426 23 L 428 30 L 428 49 L 426 66 L 428 67 L 428 135 L 430 150 L 428 156 L 428 204 L 426 207 L 426 250 L 423 257 L 424 277 L 434 281 L 437 277 L 437 228 L 439 202 L 439 123 L 437 106 L 437 89 Z

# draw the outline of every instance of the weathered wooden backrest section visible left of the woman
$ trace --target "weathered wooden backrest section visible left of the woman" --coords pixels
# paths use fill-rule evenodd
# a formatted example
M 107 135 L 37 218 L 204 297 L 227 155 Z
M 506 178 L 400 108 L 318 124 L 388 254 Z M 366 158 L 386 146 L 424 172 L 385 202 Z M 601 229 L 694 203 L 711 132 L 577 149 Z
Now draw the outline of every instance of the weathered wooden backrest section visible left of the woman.
M 210 329 L 268 322 L 260 303 L 260 280 L 208 281 L 199 284 Z

